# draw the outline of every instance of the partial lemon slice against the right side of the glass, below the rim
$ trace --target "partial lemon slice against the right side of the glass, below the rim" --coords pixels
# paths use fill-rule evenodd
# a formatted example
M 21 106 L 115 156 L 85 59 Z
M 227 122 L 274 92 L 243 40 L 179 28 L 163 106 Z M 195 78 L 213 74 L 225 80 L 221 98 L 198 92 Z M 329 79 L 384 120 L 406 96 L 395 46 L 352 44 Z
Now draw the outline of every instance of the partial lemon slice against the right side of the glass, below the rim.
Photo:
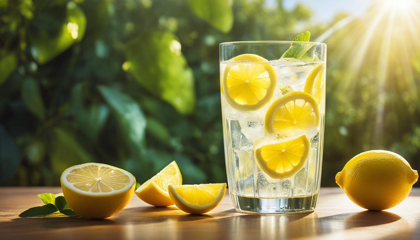
M 304 92 L 312 95 L 318 104 L 321 103 L 321 98 L 324 95 L 324 69 L 324 63 L 319 63 L 317 66 L 315 66 L 308 75 L 304 87 Z

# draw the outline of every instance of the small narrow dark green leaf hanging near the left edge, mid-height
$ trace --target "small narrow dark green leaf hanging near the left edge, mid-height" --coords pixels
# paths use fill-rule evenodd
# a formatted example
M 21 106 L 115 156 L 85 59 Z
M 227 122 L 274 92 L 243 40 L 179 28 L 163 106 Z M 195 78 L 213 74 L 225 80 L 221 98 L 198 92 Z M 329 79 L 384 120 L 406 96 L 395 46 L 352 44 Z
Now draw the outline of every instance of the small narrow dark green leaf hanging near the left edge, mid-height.
M 45 119 L 44 102 L 42 101 L 41 91 L 39 90 L 38 82 L 28 77 L 22 82 L 21 96 L 26 107 L 33 113 L 39 120 Z

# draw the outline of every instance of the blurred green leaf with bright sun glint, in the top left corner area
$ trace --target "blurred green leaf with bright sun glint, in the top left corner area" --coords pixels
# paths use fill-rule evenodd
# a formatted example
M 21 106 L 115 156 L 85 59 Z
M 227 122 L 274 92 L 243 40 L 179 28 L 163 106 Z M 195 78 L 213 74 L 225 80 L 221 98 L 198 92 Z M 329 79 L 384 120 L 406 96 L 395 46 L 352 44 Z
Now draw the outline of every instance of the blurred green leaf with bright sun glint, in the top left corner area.
M 50 1 L 32 20 L 30 29 L 32 55 L 39 64 L 44 64 L 82 40 L 86 16 L 73 1 Z

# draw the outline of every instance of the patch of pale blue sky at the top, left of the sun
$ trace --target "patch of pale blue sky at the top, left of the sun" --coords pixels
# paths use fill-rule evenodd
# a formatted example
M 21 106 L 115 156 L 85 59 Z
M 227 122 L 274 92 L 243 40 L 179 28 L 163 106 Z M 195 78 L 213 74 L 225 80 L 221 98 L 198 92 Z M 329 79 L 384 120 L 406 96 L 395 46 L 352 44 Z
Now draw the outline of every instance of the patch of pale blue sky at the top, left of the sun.
M 372 0 L 283 0 L 283 6 L 290 10 L 297 3 L 302 3 L 311 9 L 314 20 L 328 21 L 340 12 L 361 15 L 371 2 Z M 267 0 L 267 4 L 276 4 L 276 0 Z

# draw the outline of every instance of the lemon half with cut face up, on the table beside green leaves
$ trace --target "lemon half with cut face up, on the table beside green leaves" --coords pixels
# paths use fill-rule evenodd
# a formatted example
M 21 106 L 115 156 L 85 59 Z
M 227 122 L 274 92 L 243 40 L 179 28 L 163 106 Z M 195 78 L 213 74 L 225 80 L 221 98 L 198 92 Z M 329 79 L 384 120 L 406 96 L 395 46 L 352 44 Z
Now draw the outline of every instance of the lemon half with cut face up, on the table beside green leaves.
M 128 171 L 97 163 L 69 167 L 60 181 L 68 206 L 80 216 L 95 219 L 121 211 L 136 187 L 136 179 Z

